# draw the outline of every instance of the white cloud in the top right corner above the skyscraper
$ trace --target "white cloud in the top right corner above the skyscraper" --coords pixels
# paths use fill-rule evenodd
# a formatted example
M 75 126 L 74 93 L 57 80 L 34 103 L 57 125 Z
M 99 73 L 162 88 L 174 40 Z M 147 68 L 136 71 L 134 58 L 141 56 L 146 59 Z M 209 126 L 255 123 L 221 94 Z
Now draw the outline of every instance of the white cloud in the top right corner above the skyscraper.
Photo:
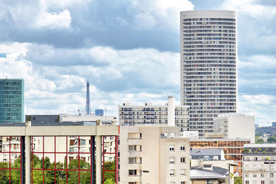
M 275 6 L 264 6 L 258 0 L 226 0 L 221 4 L 223 10 L 236 10 L 240 13 L 250 14 L 256 19 L 273 18 L 276 14 Z

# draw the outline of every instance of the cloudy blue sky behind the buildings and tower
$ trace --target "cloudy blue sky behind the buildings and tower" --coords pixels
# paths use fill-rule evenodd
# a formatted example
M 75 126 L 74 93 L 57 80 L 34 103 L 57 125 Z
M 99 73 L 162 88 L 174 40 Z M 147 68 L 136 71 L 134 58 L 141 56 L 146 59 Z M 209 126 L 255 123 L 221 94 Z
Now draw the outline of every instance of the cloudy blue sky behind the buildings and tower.
M 85 110 L 168 95 L 180 104 L 179 12 L 238 14 L 238 110 L 276 121 L 274 0 L 1 0 L 0 78 L 25 80 L 25 114 Z

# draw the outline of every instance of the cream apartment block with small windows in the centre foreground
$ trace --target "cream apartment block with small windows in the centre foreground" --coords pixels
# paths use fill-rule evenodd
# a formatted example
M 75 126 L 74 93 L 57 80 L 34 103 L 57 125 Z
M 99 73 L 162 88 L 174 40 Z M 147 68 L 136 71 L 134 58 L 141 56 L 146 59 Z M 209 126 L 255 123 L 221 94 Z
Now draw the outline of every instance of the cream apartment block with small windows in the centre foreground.
M 189 139 L 179 127 L 122 126 L 119 155 L 120 183 L 190 183 Z

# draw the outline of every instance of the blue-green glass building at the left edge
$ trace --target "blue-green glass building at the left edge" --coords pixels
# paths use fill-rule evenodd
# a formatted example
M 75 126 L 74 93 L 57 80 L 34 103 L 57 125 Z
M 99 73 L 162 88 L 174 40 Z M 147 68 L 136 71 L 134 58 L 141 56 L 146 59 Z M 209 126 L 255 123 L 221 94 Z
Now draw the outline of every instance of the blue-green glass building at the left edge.
M 23 123 L 23 79 L 0 79 L 0 123 Z

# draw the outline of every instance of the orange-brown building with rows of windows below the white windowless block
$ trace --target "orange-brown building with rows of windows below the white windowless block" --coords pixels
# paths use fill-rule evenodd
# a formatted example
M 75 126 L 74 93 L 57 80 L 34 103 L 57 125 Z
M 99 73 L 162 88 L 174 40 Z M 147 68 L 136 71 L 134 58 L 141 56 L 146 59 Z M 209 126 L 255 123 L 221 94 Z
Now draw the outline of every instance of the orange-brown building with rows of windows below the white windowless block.
M 235 161 L 239 166 L 234 167 L 234 172 L 242 175 L 242 152 L 244 144 L 250 143 L 250 139 L 191 139 L 192 149 L 221 149 L 228 161 Z

